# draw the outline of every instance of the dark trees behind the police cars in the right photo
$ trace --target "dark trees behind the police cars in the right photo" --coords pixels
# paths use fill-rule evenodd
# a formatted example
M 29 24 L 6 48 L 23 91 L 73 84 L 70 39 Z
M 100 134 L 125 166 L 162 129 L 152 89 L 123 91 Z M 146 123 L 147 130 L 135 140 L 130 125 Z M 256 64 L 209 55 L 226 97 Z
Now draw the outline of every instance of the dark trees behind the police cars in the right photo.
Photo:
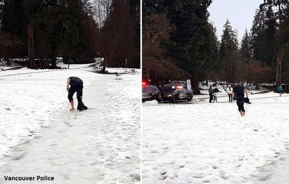
M 143 0 L 143 78 L 153 84 L 191 79 L 195 93 L 205 80 L 289 83 L 289 1 L 260 4 L 241 42 L 229 20 L 217 39 L 208 19 L 211 3 Z

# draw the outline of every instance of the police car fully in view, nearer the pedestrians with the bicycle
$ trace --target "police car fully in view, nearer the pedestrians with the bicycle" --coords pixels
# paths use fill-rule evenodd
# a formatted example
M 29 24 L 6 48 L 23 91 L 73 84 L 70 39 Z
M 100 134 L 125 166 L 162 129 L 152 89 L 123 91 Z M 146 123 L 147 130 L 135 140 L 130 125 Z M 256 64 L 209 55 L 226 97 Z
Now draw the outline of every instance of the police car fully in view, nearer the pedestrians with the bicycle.
M 191 102 L 193 99 L 193 91 L 183 88 L 183 86 L 172 86 L 164 91 L 163 100 L 165 102 L 177 102 L 180 100 L 187 100 Z

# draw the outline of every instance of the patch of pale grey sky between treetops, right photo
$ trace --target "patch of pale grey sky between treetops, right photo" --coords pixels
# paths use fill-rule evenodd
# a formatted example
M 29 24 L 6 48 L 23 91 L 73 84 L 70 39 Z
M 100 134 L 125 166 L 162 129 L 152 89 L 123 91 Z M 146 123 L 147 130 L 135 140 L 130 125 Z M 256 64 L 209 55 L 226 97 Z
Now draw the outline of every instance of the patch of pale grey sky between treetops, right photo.
M 209 19 L 217 28 L 218 39 L 220 40 L 228 18 L 233 30 L 238 30 L 238 38 L 241 40 L 246 28 L 250 32 L 256 9 L 263 2 L 264 0 L 213 0 L 208 9 Z

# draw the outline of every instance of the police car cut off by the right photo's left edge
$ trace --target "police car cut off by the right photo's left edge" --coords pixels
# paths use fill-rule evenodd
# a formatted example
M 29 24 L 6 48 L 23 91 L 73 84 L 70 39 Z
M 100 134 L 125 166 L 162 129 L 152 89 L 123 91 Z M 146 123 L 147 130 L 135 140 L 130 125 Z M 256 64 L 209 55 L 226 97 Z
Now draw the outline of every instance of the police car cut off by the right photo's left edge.
M 143 82 L 142 85 L 142 101 L 156 100 L 161 102 L 161 91 L 155 85 L 148 85 Z

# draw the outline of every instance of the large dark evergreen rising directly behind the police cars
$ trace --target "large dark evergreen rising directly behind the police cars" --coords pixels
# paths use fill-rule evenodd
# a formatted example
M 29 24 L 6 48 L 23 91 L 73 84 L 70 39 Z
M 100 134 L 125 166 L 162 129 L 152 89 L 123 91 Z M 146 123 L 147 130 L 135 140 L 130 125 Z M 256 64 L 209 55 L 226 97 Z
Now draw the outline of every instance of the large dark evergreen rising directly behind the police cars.
M 211 50 L 207 49 L 213 39 L 208 37 L 212 33 L 207 11 L 211 2 L 211 0 L 166 0 L 161 4 L 161 8 L 168 12 L 167 16 L 175 26 L 167 48 L 176 65 L 192 75 L 195 94 L 200 93 L 198 83 L 205 63 L 212 61 Z

